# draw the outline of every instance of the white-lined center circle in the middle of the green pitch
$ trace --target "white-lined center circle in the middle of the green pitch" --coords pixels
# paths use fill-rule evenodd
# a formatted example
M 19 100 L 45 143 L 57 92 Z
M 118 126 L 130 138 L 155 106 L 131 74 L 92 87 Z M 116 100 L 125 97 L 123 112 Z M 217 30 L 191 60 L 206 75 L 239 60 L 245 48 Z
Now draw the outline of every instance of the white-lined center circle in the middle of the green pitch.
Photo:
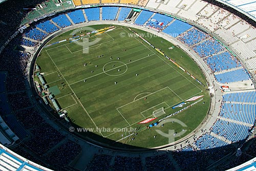
M 121 63 L 121 64 L 120 64 Z M 111 61 L 103 66 L 103 72 L 109 76 L 119 76 L 127 71 L 128 67 L 121 61 Z

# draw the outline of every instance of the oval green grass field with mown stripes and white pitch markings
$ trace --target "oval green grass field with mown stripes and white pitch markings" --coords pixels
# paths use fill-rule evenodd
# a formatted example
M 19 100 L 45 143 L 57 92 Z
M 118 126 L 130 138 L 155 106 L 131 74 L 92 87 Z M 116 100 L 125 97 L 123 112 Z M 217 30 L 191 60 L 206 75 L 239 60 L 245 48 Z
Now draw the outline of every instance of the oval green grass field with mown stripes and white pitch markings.
M 93 29 L 104 27 L 109 26 L 90 26 Z M 146 35 L 144 31 L 133 30 Z M 84 31 L 88 32 L 88 28 L 68 31 L 50 40 L 48 45 Z M 174 45 L 160 37 L 144 38 L 207 85 L 199 67 L 184 51 L 170 48 Z M 40 73 L 45 73 L 48 87 L 59 88 L 60 94 L 55 99 L 60 109 L 68 112 L 72 126 L 90 131 L 78 133 L 75 130 L 76 133 L 112 146 L 148 148 L 168 144 L 169 139 L 156 130 L 165 134 L 169 130 L 183 131 L 175 136 L 175 140 L 179 140 L 193 132 L 209 110 L 207 87 L 132 35 L 126 27 L 116 26 L 114 30 L 91 34 L 76 42 L 64 41 L 45 47 L 36 63 L 41 68 Z M 148 124 L 195 101 L 181 108 L 172 109 L 173 106 L 199 95 L 203 95 L 201 101 L 170 117 L 183 122 L 185 127 L 178 122 L 166 122 L 164 126 L 146 129 Z M 153 112 L 161 108 L 164 111 L 156 120 L 138 124 L 154 118 Z

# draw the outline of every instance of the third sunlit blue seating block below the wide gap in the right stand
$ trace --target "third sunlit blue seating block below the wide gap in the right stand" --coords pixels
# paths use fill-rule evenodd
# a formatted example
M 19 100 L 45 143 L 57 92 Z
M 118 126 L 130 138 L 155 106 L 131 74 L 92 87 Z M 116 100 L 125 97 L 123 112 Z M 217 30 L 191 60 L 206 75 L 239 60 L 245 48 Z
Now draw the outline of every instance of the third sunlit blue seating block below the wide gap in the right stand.
M 212 132 L 234 142 L 244 140 L 248 136 L 248 129 L 249 126 L 219 119 L 212 127 Z

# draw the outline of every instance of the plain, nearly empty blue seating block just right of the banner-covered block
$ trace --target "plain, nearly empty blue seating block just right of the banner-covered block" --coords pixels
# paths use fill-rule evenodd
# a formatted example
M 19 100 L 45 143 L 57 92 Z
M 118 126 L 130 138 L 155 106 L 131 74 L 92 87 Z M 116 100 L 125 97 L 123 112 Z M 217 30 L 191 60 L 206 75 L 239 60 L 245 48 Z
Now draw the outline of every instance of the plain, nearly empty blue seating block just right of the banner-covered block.
M 190 29 L 192 26 L 182 22 L 181 20 L 176 19 L 174 23 L 170 24 L 166 27 L 163 32 L 169 34 L 170 36 L 177 37 L 181 33 L 185 32 L 186 30 Z

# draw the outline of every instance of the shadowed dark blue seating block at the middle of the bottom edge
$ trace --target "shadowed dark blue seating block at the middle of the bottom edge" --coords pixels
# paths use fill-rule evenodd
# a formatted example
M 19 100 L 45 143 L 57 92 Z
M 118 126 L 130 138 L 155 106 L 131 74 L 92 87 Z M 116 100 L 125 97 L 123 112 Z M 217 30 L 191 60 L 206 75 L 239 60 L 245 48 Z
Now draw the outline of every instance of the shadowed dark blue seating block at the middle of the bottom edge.
M 116 156 L 113 166 L 114 171 L 120 170 L 142 170 L 142 163 L 140 157 L 124 157 Z

